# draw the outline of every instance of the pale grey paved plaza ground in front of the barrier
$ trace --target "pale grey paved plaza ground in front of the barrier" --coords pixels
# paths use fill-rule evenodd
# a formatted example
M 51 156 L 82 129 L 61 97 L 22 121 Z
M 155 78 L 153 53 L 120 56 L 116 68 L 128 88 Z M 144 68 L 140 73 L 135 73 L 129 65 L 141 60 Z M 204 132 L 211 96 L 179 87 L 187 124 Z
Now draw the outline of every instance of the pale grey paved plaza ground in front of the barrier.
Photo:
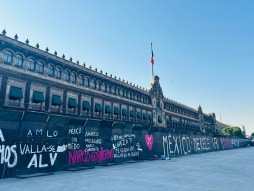
M 254 147 L 0 180 L 0 191 L 252 191 Z

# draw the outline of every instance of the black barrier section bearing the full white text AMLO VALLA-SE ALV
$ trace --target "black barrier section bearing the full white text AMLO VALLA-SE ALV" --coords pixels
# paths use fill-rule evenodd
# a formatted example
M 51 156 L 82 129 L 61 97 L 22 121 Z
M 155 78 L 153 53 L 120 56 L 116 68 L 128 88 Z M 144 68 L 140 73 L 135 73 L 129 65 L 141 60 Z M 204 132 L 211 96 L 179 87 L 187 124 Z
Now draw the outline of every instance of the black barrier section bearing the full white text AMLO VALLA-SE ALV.
M 18 163 L 16 175 L 62 170 L 64 156 L 65 126 L 69 118 L 26 112 L 20 126 L 17 144 Z

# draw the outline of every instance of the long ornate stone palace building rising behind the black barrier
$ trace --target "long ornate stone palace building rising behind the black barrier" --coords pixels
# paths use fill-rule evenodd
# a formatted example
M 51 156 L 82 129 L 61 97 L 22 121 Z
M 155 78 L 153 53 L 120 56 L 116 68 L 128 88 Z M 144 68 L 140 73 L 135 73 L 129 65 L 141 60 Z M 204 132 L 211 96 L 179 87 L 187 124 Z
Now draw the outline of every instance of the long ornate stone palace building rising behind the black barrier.
M 159 77 L 148 90 L 96 68 L 0 35 L 0 108 L 108 119 L 221 134 L 224 124 L 201 106 L 193 109 L 164 97 Z

